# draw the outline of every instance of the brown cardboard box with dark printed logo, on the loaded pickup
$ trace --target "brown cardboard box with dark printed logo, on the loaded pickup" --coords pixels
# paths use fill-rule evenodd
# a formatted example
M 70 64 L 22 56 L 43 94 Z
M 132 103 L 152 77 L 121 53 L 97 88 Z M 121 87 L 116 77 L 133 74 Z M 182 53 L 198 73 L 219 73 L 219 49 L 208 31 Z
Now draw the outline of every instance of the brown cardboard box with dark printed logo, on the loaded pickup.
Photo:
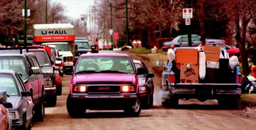
M 181 83 L 198 83 L 198 63 L 181 63 L 180 82 Z

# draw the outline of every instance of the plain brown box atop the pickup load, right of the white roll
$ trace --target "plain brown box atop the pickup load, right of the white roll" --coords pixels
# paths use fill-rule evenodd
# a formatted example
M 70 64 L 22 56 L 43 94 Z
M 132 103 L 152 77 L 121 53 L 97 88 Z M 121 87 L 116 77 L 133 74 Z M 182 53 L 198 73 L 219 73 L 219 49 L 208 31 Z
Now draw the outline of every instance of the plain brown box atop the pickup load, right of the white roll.
M 221 47 L 204 46 L 202 49 L 204 50 L 206 61 L 219 62 Z

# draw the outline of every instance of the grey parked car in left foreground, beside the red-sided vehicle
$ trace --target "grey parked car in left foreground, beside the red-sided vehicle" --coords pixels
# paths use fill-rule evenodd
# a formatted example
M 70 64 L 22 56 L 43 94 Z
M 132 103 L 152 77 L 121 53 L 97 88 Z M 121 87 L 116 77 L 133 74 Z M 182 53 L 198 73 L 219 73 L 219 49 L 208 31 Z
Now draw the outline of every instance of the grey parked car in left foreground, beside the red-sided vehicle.
M 6 91 L 9 95 L 7 102 L 13 106 L 7 108 L 12 117 L 12 127 L 31 129 L 34 104 L 19 74 L 12 70 L 0 70 L 0 91 Z

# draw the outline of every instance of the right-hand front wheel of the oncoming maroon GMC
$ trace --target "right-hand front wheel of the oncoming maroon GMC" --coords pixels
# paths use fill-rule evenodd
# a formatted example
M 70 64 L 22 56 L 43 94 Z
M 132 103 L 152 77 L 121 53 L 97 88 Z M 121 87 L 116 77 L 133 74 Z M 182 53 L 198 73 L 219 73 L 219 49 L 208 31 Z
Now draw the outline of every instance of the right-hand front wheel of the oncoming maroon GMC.
M 137 98 L 134 104 L 130 106 L 126 106 L 123 111 L 127 116 L 131 116 L 131 117 L 139 116 L 141 111 L 140 99 Z

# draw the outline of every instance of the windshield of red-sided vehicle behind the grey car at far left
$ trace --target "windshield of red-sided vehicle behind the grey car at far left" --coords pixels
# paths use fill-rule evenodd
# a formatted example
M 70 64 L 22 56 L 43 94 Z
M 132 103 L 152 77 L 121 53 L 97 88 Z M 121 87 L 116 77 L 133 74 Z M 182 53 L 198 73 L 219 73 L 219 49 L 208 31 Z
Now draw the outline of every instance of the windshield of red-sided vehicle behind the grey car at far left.
M 0 70 L 13 70 L 22 75 L 29 75 L 24 58 L 19 56 L 0 57 Z

